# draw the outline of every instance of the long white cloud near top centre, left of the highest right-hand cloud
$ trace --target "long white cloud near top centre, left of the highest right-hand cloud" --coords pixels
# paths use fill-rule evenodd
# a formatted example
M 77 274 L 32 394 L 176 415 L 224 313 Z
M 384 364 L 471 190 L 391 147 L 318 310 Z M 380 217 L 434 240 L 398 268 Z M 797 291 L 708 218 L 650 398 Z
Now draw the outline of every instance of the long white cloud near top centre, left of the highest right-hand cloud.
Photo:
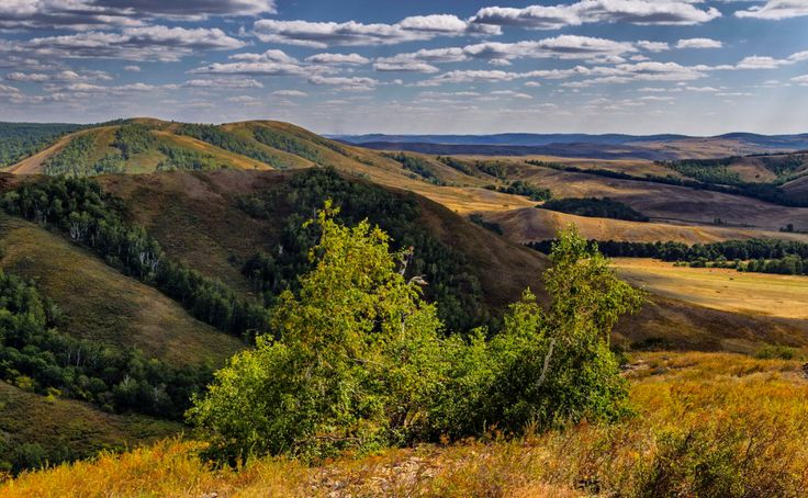
M 500 27 L 472 24 L 456 15 L 434 14 L 406 18 L 395 24 L 263 19 L 255 22 L 252 32 L 266 43 L 326 48 L 329 45 L 392 45 L 436 36 L 500 34 Z

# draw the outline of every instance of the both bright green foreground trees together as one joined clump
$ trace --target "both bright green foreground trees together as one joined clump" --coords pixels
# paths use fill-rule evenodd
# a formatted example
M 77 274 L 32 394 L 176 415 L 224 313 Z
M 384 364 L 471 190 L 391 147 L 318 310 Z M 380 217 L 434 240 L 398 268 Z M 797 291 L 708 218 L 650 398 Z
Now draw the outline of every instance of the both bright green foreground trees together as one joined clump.
M 211 454 L 324 457 L 626 412 L 608 335 L 642 296 L 575 231 L 553 248 L 549 310 L 526 291 L 487 339 L 447 336 L 405 276 L 409 250 L 390 252 L 384 231 L 334 215 L 326 203 L 313 268 L 272 313 L 278 340 L 236 355 L 189 412 Z

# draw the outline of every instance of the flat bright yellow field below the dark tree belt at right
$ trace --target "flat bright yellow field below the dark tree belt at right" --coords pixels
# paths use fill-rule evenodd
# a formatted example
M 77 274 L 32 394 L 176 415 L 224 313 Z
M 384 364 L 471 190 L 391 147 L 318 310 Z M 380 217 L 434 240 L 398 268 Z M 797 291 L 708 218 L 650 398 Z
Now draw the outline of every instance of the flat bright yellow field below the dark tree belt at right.
M 617 258 L 617 271 L 633 285 L 698 306 L 751 315 L 808 318 L 808 278 L 682 268 L 650 259 Z

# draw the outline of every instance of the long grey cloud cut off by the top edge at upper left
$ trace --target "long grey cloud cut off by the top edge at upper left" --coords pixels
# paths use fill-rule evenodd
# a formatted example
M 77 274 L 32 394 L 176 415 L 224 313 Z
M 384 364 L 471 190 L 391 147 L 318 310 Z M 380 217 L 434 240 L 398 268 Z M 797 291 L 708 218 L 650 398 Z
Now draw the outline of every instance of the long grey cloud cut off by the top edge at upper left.
M 204 20 L 276 13 L 274 0 L 5 0 L 0 29 L 106 29 L 143 20 Z

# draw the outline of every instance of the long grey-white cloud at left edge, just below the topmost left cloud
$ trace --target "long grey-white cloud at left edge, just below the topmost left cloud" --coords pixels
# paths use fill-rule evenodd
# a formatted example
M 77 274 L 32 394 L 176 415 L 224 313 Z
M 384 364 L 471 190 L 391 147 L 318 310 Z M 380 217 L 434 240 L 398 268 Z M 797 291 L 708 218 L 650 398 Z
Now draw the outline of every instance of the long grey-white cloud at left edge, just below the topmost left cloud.
M 0 52 L 47 58 L 110 58 L 177 61 L 201 50 L 228 50 L 246 44 L 218 29 L 126 27 L 119 33 L 90 31 L 0 44 Z

